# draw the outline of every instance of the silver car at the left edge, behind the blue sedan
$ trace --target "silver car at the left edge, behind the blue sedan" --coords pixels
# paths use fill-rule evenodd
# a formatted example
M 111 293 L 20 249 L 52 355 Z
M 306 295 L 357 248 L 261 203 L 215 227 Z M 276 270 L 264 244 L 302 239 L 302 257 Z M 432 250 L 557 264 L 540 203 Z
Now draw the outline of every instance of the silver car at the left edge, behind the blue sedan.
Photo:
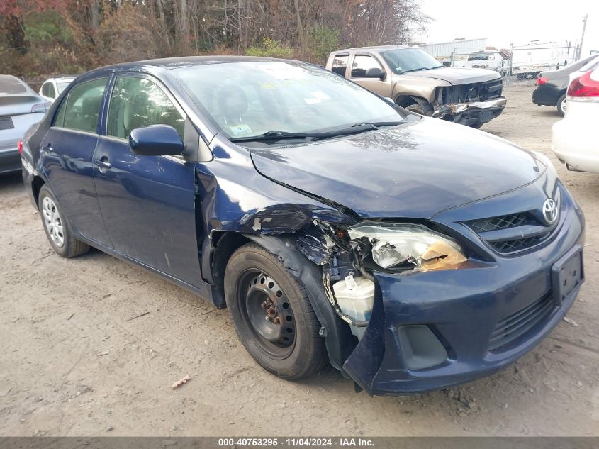
M 0 75 L 0 173 L 21 170 L 17 143 L 51 104 L 21 79 Z

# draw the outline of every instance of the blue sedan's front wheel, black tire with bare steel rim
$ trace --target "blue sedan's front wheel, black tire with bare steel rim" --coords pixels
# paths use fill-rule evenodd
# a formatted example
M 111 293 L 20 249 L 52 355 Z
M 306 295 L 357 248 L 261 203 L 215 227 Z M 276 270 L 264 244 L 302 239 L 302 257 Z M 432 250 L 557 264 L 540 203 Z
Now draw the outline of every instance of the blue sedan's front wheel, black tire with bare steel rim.
M 256 243 L 230 257 L 225 299 L 237 336 L 264 369 L 284 379 L 313 375 L 326 355 L 303 284 Z

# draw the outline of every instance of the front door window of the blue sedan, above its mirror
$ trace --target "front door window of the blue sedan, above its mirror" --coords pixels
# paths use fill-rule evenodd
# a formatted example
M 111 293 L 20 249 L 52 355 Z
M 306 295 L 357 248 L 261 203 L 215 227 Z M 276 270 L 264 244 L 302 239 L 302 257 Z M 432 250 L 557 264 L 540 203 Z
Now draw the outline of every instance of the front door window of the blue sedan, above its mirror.
M 135 128 L 150 125 L 170 125 L 182 139 L 185 119 L 155 82 L 118 77 L 108 106 L 106 134 L 126 139 Z

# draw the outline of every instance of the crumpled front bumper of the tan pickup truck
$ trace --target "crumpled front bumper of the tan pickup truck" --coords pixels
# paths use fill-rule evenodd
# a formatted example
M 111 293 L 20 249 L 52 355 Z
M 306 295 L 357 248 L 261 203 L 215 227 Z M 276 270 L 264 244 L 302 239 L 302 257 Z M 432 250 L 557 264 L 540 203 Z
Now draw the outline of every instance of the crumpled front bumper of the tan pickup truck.
M 473 126 L 486 123 L 497 118 L 505 109 L 508 100 L 505 96 L 488 101 L 471 101 L 469 103 L 440 104 L 435 107 L 432 116 L 452 120 L 461 125 Z

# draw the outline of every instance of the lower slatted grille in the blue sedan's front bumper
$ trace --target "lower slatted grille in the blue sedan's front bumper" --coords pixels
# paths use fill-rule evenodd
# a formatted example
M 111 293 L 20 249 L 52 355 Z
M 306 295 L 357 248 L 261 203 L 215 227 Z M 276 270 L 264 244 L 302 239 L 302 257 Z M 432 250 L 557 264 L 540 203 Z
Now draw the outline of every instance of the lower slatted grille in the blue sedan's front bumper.
M 554 308 L 553 292 L 549 290 L 537 301 L 501 319 L 491 333 L 488 350 L 502 350 L 515 342 L 547 318 Z

